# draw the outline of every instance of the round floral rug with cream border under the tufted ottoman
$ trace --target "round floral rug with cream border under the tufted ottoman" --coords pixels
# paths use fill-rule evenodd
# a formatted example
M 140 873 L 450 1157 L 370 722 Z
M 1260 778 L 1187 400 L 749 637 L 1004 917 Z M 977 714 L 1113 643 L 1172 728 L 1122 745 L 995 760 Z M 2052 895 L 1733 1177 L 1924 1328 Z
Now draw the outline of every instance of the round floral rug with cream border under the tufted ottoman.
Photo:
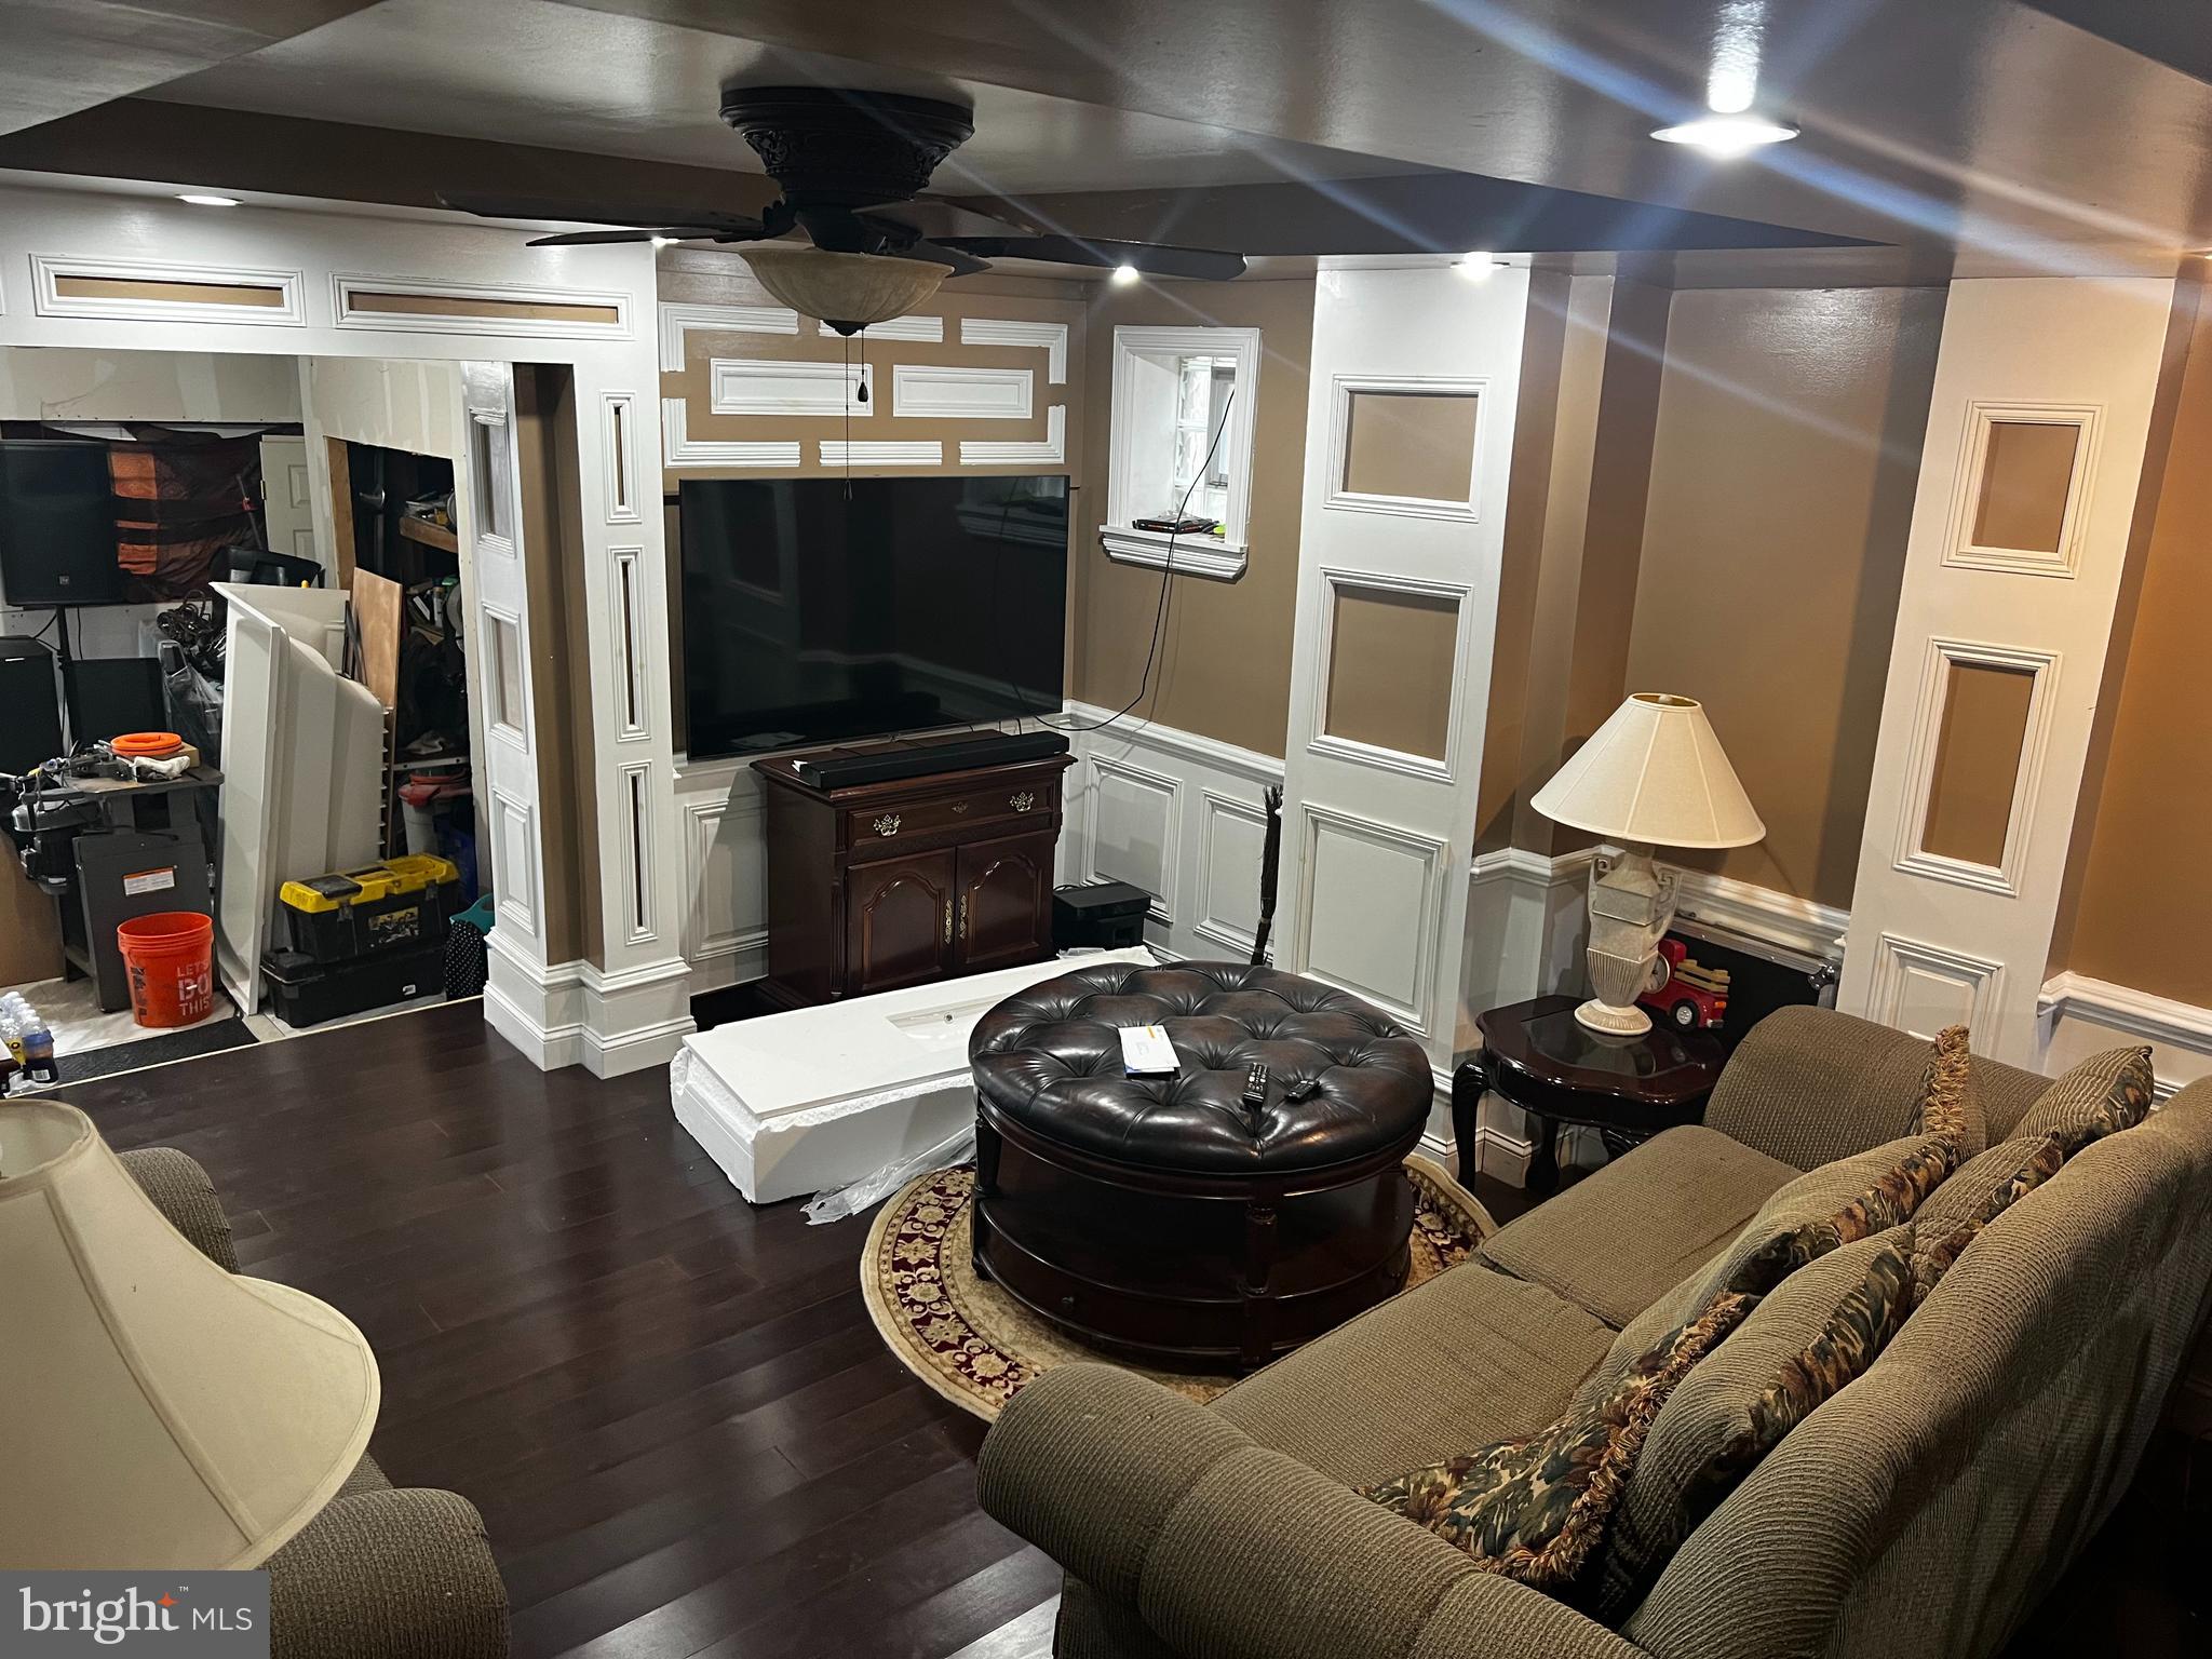
M 1440 1164 L 1409 1157 L 1405 1172 L 1416 1197 L 1413 1267 L 1405 1279 L 1411 1290 L 1467 1261 L 1498 1223 Z M 1097 1354 L 978 1279 L 969 1259 L 973 1186 L 973 1164 L 909 1181 L 876 1214 L 860 1254 L 860 1294 L 876 1329 L 900 1365 L 947 1400 L 991 1422 L 1026 1383 L 1073 1360 L 1121 1365 L 1201 1402 L 1237 1383 L 1234 1376 L 1150 1371 Z

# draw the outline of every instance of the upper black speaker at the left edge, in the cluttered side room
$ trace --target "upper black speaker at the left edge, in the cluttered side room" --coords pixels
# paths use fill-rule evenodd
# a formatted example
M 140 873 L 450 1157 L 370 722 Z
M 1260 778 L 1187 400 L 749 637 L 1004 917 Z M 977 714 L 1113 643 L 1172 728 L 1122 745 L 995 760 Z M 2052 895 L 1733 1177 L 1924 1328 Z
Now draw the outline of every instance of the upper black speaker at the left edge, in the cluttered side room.
M 13 606 L 122 604 L 106 445 L 0 442 L 0 588 Z

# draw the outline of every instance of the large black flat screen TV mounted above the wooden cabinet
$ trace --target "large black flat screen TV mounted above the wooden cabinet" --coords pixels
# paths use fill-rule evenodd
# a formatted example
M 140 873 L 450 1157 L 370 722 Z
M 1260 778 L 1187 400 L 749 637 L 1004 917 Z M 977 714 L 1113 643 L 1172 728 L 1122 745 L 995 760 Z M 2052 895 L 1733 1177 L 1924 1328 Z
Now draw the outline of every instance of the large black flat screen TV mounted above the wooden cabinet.
M 1062 706 L 1068 480 L 686 478 L 692 757 Z

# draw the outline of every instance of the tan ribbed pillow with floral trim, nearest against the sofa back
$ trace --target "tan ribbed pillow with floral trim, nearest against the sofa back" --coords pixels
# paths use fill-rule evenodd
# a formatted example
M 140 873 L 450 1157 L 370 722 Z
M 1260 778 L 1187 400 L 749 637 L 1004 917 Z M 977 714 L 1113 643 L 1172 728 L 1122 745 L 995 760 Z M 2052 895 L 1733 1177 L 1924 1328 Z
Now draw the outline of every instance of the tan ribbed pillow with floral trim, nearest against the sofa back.
M 1759 1460 L 1887 1347 L 1911 1303 L 1909 1248 L 1911 1228 L 1891 1228 L 1790 1274 L 1681 1380 L 1606 1537 L 1601 1617 L 1641 1601 Z

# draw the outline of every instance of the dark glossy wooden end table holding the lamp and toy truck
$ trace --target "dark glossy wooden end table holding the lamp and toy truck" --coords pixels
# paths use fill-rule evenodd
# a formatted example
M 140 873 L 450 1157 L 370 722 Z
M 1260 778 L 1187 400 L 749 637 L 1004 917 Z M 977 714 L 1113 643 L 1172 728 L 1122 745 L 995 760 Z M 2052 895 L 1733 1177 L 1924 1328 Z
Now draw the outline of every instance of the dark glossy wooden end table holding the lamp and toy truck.
M 1575 1020 L 1577 1006 L 1582 998 L 1551 995 L 1475 1018 L 1482 1046 L 1451 1073 L 1462 1181 L 1473 1175 L 1475 1110 L 1484 1091 L 1535 1117 L 1531 1192 L 1559 1190 L 1562 1124 L 1597 1128 L 1606 1150 L 1626 1152 L 1663 1128 L 1705 1115 L 1705 1097 L 1728 1057 L 1719 1037 L 1666 1024 L 1641 1037 L 1613 1037 Z

